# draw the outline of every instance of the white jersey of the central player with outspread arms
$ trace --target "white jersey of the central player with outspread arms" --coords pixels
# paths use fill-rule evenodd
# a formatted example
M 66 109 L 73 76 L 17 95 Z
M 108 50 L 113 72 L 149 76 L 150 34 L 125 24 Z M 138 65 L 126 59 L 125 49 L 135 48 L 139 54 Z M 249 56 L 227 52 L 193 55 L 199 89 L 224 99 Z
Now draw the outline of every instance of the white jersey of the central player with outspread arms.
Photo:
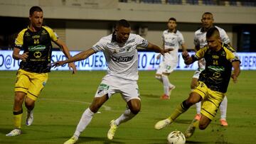
M 107 74 L 137 81 L 139 78 L 137 47 L 146 48 L 148 45 L 148 40 L 132 33 L 125 43 L 117 43 L 113 33 L 101 38 L 92 49 L 104 53 L 108 65 Z

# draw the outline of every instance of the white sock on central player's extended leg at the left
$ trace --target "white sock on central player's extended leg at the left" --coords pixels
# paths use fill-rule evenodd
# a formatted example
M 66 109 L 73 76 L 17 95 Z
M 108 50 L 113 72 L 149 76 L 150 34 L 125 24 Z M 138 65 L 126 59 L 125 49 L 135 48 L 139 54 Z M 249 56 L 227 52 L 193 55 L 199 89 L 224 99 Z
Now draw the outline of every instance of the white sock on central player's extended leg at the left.
M 93 115 L 94 113 L 89 108 L 87 108 L 85 112 L 82 113 L 82 117 L 80 118 L 80 121 L 74 133 L 76 137 L 79 137 L 80 133 L 85 130 L 86 126 L 88 126 L 88 124 L 92 120 Z

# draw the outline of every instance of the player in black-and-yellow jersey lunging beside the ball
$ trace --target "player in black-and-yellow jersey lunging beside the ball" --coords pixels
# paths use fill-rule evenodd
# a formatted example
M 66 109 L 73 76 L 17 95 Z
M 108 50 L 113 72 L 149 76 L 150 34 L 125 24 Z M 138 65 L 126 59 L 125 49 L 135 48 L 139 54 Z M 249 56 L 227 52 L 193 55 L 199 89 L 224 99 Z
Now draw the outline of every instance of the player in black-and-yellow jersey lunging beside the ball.
M 192 121 L 185 136 L 190 138 L 196 127 L 201 130 L 205 129 L 215 117 L 225 92 L 227 92 L 229 77 L 234 82 L 237 81 L 240 74 L 240 60 L 235 55 L 235 50 L 220 40 L 218 28 L 210 28 L 206 33 L 206 40 L 208 45 L 198 50 L 196 55 L 189 56 L 188 52 L 182 53 L 186 65 L 202 58 L 206 60 L 206 69 L 199 76 L 198 86 L 189 94 L 188 99 L 177 106 L 169 118 L 156 123 L 157 130 L 169 126 L 181 113 L 199 101 L 202 102 L 201 119 Z M 233 73 L 232 68 L 234 68 Z

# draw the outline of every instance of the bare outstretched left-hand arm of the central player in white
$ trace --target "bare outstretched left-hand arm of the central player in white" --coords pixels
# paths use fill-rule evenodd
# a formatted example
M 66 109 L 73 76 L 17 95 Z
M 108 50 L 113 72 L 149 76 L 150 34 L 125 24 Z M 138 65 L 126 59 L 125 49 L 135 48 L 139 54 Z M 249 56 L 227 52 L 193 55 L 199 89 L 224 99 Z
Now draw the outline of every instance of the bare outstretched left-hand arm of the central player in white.
M 68 60 L 54 62 L 53 66 L 58 67 L 60 65 L 66 64 L 66 63 L 76 62 L 76 61 L 79 61 L 79 60 L 85 60 L 87 57 L 90 57 L 90 55 L 92 55 L 94 53 L 95 53 L 95 50 L 90 48 L 89 50 L 79 52 L 77 55 L 74 55 L 73 57 L 68 58 Z

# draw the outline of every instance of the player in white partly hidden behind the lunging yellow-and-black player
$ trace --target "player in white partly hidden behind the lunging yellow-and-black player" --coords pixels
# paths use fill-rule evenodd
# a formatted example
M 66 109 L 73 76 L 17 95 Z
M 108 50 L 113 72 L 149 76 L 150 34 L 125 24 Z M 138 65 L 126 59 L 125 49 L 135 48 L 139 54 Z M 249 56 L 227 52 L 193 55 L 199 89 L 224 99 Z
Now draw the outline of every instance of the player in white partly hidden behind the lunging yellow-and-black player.
M 194 45 L 195 49 L 199 50 L 203 48 L 205 45 L 207 45 L 206 41 L 206 32 L 208 29 L 213 27 L 213 14 L 210 12 L 203 13 L 201 22 L 203 27 L 198 29 L 198 31 L 195 32 L 194 36 Z M 223 28 L 219 28 L 218 26 L 215 26 L 215 28 L 218 28 L 218 31 L 220 32 L 220 40 L 230 45 L 230 39 L 228 38 L 227 33 L 223 30 Z M 206 62 L 204 59 L 198 61 L 198 70 L 193 74 L 193 78 L 191 81 L 191 91 L 197 86 L 198 84 L 198 77 L 199 74 L 205 69 Z M 227 106 L 228 106 L 228 99 L 227 96 L 224 97 L 223 101 L 220 104 L 220 125 L 221 126 L 228 126 L 228 122 L 226 121 L 226 114 L 227 114 Z M 196 104 L 196 120 L 200 120 L 201 118 L 201 102 L 198 102 Z

